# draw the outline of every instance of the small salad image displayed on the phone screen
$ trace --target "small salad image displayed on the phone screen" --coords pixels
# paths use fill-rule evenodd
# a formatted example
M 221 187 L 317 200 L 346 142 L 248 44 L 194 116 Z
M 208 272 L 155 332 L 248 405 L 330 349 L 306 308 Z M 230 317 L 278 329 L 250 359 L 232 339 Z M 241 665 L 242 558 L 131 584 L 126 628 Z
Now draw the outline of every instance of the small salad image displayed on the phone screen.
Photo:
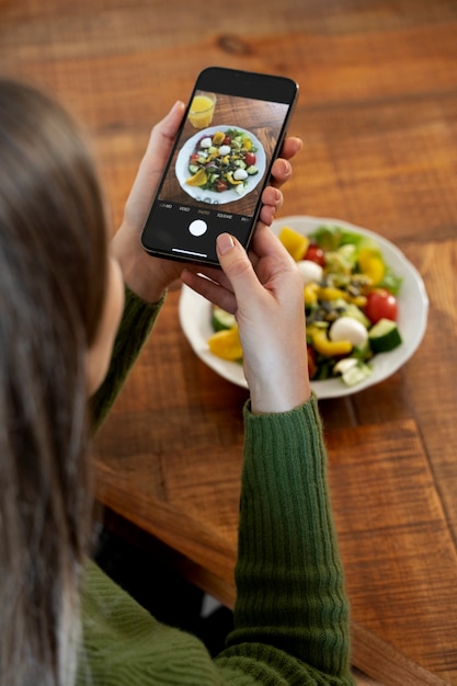
M 255 153 L 256 147 L 245 132 L 229 128 L 204 136 L 188 158 L 191 175 L 185 183 L 216 193 L 233 190 L 242 195 L 249 178 L 259 173 Z

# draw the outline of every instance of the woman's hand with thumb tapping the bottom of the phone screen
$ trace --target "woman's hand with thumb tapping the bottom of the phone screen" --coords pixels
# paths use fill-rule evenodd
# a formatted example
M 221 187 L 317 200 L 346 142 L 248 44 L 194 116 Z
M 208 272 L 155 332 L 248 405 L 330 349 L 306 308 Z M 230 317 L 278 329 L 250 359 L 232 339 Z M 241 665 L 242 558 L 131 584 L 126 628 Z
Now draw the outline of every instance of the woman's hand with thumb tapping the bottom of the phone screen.
M 204 278 L 185 271 L 183 282 L 235 313 L 254 413 L 285 412 L 310 397 L 302 278 L 277 237 L 259 224 L 249 256 L 235 237 L 217 239 L 222 273 Z M 203 270 L 199 270 L 203 272 Z

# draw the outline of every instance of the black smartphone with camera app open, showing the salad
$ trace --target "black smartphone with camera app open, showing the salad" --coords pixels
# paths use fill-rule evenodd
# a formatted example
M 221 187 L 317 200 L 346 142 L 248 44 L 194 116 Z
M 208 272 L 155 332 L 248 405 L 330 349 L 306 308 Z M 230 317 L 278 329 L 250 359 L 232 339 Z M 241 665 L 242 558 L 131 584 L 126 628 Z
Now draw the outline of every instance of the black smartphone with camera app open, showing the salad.
M 142 230 L 148 253 L 218 265 L 224 231 L 248 248 L 297 95 L 281 76 L 199 73 Z

